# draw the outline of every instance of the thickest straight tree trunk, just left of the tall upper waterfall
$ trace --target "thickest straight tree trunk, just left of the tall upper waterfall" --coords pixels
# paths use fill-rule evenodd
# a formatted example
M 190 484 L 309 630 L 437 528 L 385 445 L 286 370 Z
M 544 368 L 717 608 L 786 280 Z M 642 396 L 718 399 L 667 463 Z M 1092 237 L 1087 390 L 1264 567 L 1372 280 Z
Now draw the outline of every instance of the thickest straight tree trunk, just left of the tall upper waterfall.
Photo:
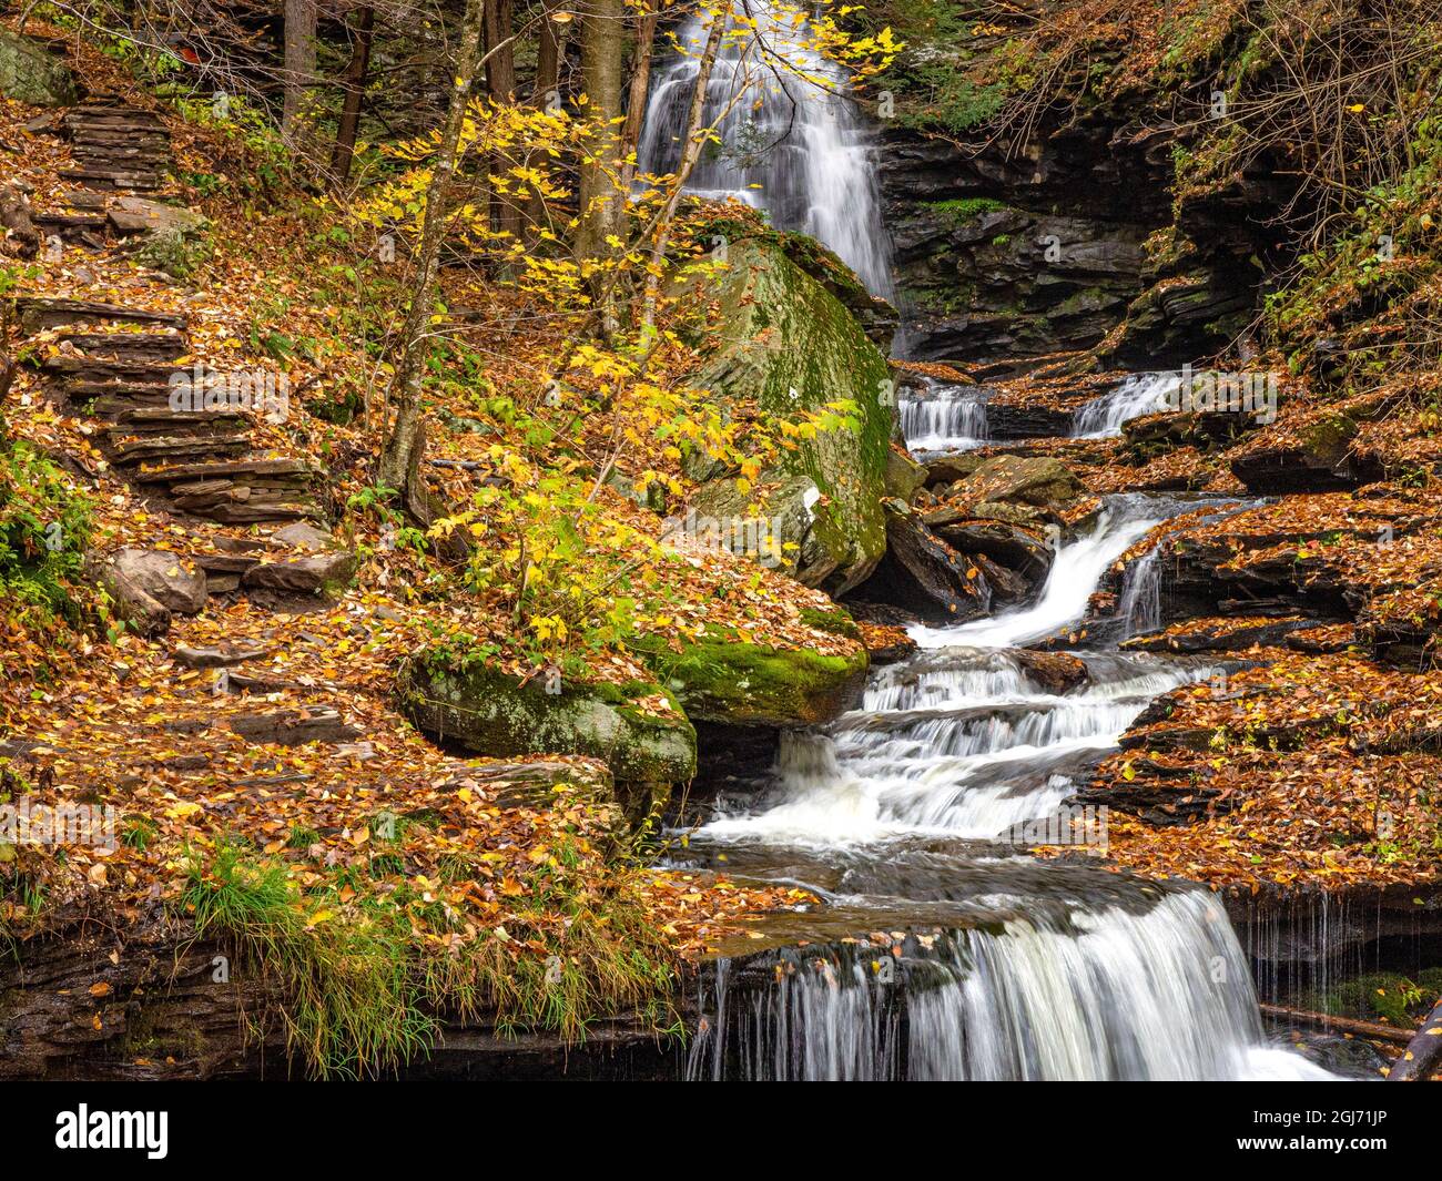
M 622 154 L 622 59 L 626 50 L 626 0 L 590 0 L 581 33 L 581 76 L 593 127 L 590 156 L 577 185 L 581 226 L 575 254 L 583 262 L 614 257 L 611 241 L 624 238 L 626 200 L 617 189 Z M 603 336 L 619 327 L 616 283 L 601 270 L 593 277 Z

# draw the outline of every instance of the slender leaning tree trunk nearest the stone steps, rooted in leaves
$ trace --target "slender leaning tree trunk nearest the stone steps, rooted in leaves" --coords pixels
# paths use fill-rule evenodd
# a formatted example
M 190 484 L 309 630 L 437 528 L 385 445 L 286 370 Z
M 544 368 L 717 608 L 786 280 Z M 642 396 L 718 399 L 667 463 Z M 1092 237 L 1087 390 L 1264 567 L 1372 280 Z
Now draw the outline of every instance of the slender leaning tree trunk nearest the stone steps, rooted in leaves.
M 435 306 L 435 273 L 440 268 L 441 239 L 446 236 L 446 205 L 456 157 L 460 146 L 466 107 L 480 65 L 482 14 L 485 0 L 466 0 L 466 14 L 460 27 L 460 52 L 456 81 L 451 87 L 450 108 L 441 131 L 440 147 L 431 164 L 431 185 L 425 193 L 425 218 L 415 255 L 415 281 L 411 307 L 401 329 L 401 361 L 395 371 L 395 423 L 381 451 L 376 480 L 402 493 L 414 515 L 424 515 L 424 480 L 420 474 L 421 450 L 425 435 L 421 430 L 421 378 L 430 353 L 430 319 Z

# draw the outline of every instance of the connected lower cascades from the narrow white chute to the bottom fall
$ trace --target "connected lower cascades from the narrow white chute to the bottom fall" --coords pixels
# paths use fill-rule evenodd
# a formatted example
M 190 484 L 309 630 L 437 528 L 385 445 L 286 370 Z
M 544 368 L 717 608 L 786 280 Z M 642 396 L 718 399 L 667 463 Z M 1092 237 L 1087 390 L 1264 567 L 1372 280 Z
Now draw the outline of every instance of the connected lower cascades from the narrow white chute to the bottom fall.
M 1214 895 L 1024 855 L 1156 694 L 1213 669 L 1079 653 L 1084 679 L 1058 692 L 1014 645 L 1080 620 L 1106 567 L 1190 506 L 1110 497 L 1035 606 L 916 629 L 911 660 L 877 671 L 831 725 L 783 735 L 761 799 L 695 835 L 702 857 L 812 884 L 841 932 L 890 934 L 808 932 L 720 960 L 689 1077 L 1327 1077 L 1265 1041 Z M 1083 836 L 1073 854 L 1096 851 Z

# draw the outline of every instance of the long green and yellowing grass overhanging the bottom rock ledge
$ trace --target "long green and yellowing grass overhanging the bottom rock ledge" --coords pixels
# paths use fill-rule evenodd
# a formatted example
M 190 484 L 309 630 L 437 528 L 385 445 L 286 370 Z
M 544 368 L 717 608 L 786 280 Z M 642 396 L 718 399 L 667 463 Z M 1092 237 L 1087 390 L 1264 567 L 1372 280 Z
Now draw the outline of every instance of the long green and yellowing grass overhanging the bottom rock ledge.
M 634 893 L 630 867 L 598 884 L 596 849 L 559 841 L 521 885 L 505 926 L 457 937 L 456 917 L 404 878 L 386 852 L 330 888 L 303 893 L 283 862 L 225 842 L 192 854 L 180 904 L 198 936 L 219 936 L 275 978 L 287 1048 L 320 1077 L 373 1077 L 430 1051 L 437 1015 L 487 1021 L 502 1035 L 544 1030 L 568 1044 L 601 1018 L 678 1035 L 679 962 Z M 391 861 L 394 858 L 394 864 Z M 480 877 L 453 854 L 444 877 Z M 359 894 L 342 907 L 342 887 Z

